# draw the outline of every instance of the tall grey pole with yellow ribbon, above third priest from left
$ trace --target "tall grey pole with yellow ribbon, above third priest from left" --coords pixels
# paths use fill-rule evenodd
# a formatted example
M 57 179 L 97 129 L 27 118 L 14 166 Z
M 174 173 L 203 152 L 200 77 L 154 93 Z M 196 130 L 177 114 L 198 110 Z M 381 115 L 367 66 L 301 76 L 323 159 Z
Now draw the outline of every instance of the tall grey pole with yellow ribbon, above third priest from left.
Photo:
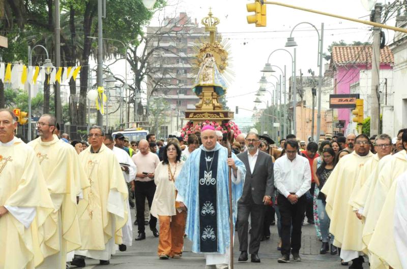
M 102 16 L 103 16 L 103 0 L 98 0 L 98 73 L 97 73 L 97 82 L 98 82 L 98 88 L 103 87 L 103 27 L 102 27 Z M 99 97 L 98 97 L 99 98 Z M 103 96 L 99 100 L 101 102 L 100 104 L 103 103 Z M 99 110 L 98 113 L 96 113 L 96 120 L 97 124 L 99 126 L 103 126 L 103 115 L 101 111 Z

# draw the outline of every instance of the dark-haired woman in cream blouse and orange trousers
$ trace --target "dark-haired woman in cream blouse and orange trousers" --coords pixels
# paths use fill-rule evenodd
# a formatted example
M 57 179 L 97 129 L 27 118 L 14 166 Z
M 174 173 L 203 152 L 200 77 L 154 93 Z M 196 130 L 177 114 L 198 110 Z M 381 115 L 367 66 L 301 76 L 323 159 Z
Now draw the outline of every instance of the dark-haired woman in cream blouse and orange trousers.
M 154 182 L 157 189 L 151 206 L 151 214 L 160 222 L 160 259 L 182 256 L 186 212 L 177 208 L 175 181 L 183 164 L 180 145 L 175 141 L 168 142 L 164 149 L 163 161 L 155 170 Z

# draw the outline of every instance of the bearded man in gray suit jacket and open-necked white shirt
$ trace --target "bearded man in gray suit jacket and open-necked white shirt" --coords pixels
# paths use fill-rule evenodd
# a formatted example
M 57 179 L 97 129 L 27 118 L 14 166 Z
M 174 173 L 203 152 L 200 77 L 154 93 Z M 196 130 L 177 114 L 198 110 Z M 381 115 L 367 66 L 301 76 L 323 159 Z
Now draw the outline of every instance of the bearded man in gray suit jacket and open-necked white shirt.
M 265 205 L 271 203 L 274 194 L 273 161 L 269 154 L 258 150 L 257 133 L 249 132 L 246 136 L 247 151 L 238 154 L 238 158 L 246 166 L 246 178 L 243 194 L 238 201 L 238 236 L 241 254 L 239 261 L 246 261 L 249 215 L 251 219 L 249 253 L 251 262 L 260 262 L 261 231 L 263 230 Z

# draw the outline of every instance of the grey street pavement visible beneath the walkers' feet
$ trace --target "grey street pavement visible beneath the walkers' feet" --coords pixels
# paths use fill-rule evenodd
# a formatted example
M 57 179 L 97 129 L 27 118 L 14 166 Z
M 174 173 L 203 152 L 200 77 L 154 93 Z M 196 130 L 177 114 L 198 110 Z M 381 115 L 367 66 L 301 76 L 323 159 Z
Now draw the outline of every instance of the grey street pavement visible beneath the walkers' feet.
M 134 221 L 134 209 L 132 210 L 132 218 Z M 158 228 L 158 224 L 157 224 Z M 302 228 L 302 247 L 300 255 L 302 262 L 294 262 L 280 264 L 277 263 L 277 258 L 280 257 L 280 252 L 277 250 L 278 234 L 277 226 L 271 226 L 272 236 L 270 240 L 261 242 L 259 257 L 261 263 L 238 262 L 239 257 L 239 242 L 235 242 L 234 260 L 235 268 L 284 268 L 284 269 L 299 269 L 299 268 L 330 268 L 330 269 L 345 269 L 347 266 L 342 266 L 337 255 L 319 254 L 321 242 L 315 237 L 315 229 L 313 225 L 304 224 Z M 137 226 L 133 225 L 133 238 L 137 236 Z M 185 250 L 181 259 L 160 260 L 157 256 L 158 238 L 154 238 L 148 225 L 146 226 L 146 240 L 133 241 L 133 246 L 127 247 L 127 251 L 119 252 L 112 256 L 110 265 L 99 265 L 99 260 L 86 259 L 86 269 L 127 269 L 127 268 L 190 268 L 199 267 L 205 268 L 205 259 L 203 255 L 191 252 L 191 242 L 185 239 Z M 292 259 L 292 257 L 290 257 Z M 364 264 L 365 268 L 368 265 Z M 74 266 L 72 266 L 74 268 Z

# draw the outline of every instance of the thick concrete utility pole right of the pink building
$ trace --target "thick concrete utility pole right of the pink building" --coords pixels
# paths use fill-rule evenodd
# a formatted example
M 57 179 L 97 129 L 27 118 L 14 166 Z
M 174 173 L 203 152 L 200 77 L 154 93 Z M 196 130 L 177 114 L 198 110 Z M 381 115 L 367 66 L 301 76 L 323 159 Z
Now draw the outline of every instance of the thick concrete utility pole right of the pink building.
M 382 18 L 382 4 L 374 5 L 374 22 L 380 23 Z M 373 45 L 372 45 L 372 79 L 370 88 L 370 135 L 378 135 L 380 128 L 379 100 L 377 99 L 377 90 L 379 89 L 380 72 L 380 32 L 381 27 L 373 27 Z

